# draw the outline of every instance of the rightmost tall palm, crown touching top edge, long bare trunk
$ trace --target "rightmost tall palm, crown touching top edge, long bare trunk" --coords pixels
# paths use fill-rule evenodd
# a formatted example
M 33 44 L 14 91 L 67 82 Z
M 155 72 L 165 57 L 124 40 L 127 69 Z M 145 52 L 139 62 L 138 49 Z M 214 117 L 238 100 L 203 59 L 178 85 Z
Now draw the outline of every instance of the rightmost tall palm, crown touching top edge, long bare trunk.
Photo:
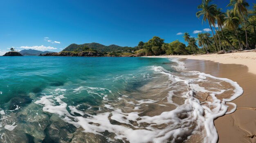
M 247 15 L 247 13 L 248 13 L 246 7 L 249 7 L 248 2 L 246 2 L 246 0 L 230 0 L 230 3 L 227 6 L 233 6 L 233 9 L 234 9 L 233 12 L 241 15 L 244 20 L 244 24 L 245 24 L 245 15 Z M 245 24 L 245 37 L 246 37 L 246 48 L 249 48 L 246 24 Z

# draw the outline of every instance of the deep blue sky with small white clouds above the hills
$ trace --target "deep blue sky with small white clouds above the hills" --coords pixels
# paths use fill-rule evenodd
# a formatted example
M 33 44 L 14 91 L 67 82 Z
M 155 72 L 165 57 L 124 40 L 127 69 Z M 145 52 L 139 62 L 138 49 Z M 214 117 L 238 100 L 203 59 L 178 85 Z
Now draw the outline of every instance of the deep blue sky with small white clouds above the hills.
M 0 55 L 16 47 L 61 51 L 76 43 L 137 46 L 153 36 L 209 29 L 195 13 L 201 0 L 1 0 Z M 229 0 L 214 3 L 226 11 Z M 247 0 L 252 5 L 254 0 Z

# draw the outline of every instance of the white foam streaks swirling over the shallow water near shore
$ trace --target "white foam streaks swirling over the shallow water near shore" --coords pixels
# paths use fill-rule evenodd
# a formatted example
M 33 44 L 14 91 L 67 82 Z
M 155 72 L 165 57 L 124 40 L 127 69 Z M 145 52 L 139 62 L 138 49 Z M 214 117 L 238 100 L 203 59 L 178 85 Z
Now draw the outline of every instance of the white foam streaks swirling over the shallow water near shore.
M 177 62 L 177 66 L 175 68 L 177 70 L 183 70 L 185 68 L 184 63 L 178 61 L 177 59 L 172 59 L 174 62 Z M 175 139 L 181 139 L 183 136 L 189 136 L 191 134 L 200 133 L 204 138 L 204 143 L 216 143 L 218 140 L 218 134 L 216 128 L 214 127 L 213 120 L 217 117 L 220 117 L 224 114 L 227 114 L 228 106 L 225 104 L 226 102 L 232 101 L 242 95 L 243 89 L 234 81 L 225 78 L 217 78 L 211 75 L 200 73 L 200 72 L 188 72 L 184 73 L 184 77 L 177 76 L 175 73 L 171 73 L 170 71 L 164 69 L 162 66 L 153 66 L 152 67 L 155 73 L 161 73 L 164 75 L 168 75 L 168 78 L 173 86 L 176 84 L 182 83 L 184 89 L 187 89 L 186 92 L 182 93 L 180 97 L 184 98 L 184 104 L 178 105 L 172 101 L 173 95 L 175 95 L 175 91 L 169 91 L 166 96 L 168 103 L 174 104 L 177 106 L 175 110 L 162 112 L 159 115 L 150 117 L 150 116 L 139 116 L 140 112 L 136 112 L 139 110 L 140 106 L 146 104 L 156 104 L 157 101 L 152 99 L 143 99 L 138 100 L 136 103 L 132 101 L 128 101 L 125 98 L 129 96 L 123 95 L 119 97 L 118 101 L 125 101 L 127 104 L 133 106 L 134 111 L 132 112 L 122 112 L 120 108 L 115 108 L 115 106 L 111 106 L 110 103 L 104 104 L 106 109 L 99 107 L 99 112 L 96 115 L 89 115 L 86 112 L 79 110 L 79 106 L 67 106 L 67 103 L 63 102 L 62 99 L 65 98 L 63 93 L 61 95 L 49 95 L 41 97 L 35 103 L 43 105 L 44 112 L 51 112 L 54 114 L 58 114 L 64 121 L 67 123 L 71 123 L 76 127 L 82 127 L 84 132 L 90 132 L 93 134 L 101 134 L 108 130 L 108 132 L 115 133 L 115 139 L 120 139 L 124 142 L 129 141 L 131 143 L 163 143 L 166 142 L 167 139 L 170 139 L 173 136 L 173 140 L 171 142 L 175 142 Z M 185 75 L 197 75 L 198 77 L 194 79 L 186 78 Z M 123 76 L 126 77 L 126 76 Z M 121 78 L 121 76 L 117 77 Z M 198 82 L 208 82 L 208 78 L 217 79 L 220 81 L 225 81 L 231 86 L 234 86 L 234 95 L 232 95 L 229 99 L 219 100 L 216 98 L 216 95 L 222 94 L 225 91 L 230 89 L 222 89 L 222 90 L 212 90 L 209 91 L 206 88 L 197 84 Z M 220 83 L 216 83 L 220 84 Z M 213 88 L 214 89 L 214 88 Z M 104 101 L 108 102 L 108 93 L 112 94 L 111 90 L 106 88 L 96 88 L 96 87 L 79 87 L 73 89 L 73 92 L 80 92 L 81 90 L 86 90 L 90 95 L 96 95 L 102 97 Z M 66 90 L 55 90 L 55 91 L 63 91 Z M 194 97 L 195 92 L 207 92 L 209 96 L 211 96 L 212 101 L 206 101 L 204 104 L 201 104 L 198 99 Z M 121 95 L 121 94 L 119 94 Z M 164 105 L 160 105 L 164 106 Z M 235 106 L 233 104 L 233 106 Z M 70 112 L 67 110 L 67 107 L 70 109 Z M 236 107 L 236 106 L 235 106 Z M 92 108 L 90 106 L 90 108 Z M 87 110 L 90 110 L 88 108 Z M 228 113 L 234 112 L 235 108 L 229 111 Z M 89 117 L 81 117 L 75 116 L 74 113 L 88 114 Z M 179 118 L 178 115 L 185 114 L 183 118 Z M 121 124 L 126 125 L 118 125 L 112 124 L 111 120 L 115 120 Z M 131 123 L 137 123 L 137 125 Z M 147 123 L 147 125 L 144 125 Z M 191 130 L 193 125 L 197 125 L 193 130 Z M 167 125 L 164 129 L 157 128 L 158 126 Z M 202 132 L 202 127 L 205 129 L 206 134 Z M 136 130 L 134 130 L 136 129 Z

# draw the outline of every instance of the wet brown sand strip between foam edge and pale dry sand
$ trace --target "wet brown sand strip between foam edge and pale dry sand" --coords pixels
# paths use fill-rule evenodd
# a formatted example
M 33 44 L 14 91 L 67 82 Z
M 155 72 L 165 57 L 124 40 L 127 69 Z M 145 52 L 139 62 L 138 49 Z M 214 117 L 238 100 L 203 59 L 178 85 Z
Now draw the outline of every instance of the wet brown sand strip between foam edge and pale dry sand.
M 241 64 L 220 64 L 207 60 L 181 59 L 187 70 L 196 70 L 224 77 L 238 82 L 244 93 L 233 103 L 237 110 L 214 121 L 218 131 L 219 143 L 255 143 L 256 142 L 256 75 L 248 72 Z

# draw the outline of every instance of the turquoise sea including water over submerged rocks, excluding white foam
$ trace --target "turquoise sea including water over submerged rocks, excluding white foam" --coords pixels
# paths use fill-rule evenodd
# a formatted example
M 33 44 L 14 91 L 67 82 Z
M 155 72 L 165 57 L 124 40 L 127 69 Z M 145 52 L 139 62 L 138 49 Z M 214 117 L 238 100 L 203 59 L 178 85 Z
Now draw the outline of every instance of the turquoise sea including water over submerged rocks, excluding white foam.
M 90 108 L 90 113 L 95 114 L 101 110 L 99 106 L 104 104 L 104 95 L 101 94 L 108 94 L 108 98 L 117 100 L 119 93 L 132 92 L 150 82 L 153 76 L 150 66 L 160 66 L 163 63 L 171 62 L 168 59 L 130 57 L 0 57 L 0 110 L 4 112 L 0 117 L 6 119 L 2 123 L 0 121 L 0 127 L 12 125 L 14 122 L 13 126 L 17 125 L 15 130 L 11 131 L 0 129 L 0 142 L 27 142 L 31 141 L 31 138 L 38 138 L 34 139 L 38 142 L 61 142 L 61 139 L 52 139 L 47 135 L 47 128 L 52 122 L 49 121 L 51 114 L 46 113 L 47 117 L 41 123 L 45 124 L 45 127 L 37 131 L 38 133 L 21 131 L 31 125 L 31 119 L 21 117 L 20 114 L 23 116 L 23 112 L 29 112 L 25 113 L 25 116 L 29 114 L 31 118 L 43 114 L 42 107 L 35 107 L 33 103 L 43 96 L 55 94 L 58 89 L 67 90 L 66 99 L 63 99 L 67 106 L 81 105 L 78 109 Z M 106 91 L 71 91 L 79 87 L 106 88 Z M 12 117 L 4 117 L 7 115 Z M 31 126 L 40 128 L 38 125 Z M 13 136 L 13 132 L 20 137 Z M 38 134 L 44 135 L 37 137 Z

